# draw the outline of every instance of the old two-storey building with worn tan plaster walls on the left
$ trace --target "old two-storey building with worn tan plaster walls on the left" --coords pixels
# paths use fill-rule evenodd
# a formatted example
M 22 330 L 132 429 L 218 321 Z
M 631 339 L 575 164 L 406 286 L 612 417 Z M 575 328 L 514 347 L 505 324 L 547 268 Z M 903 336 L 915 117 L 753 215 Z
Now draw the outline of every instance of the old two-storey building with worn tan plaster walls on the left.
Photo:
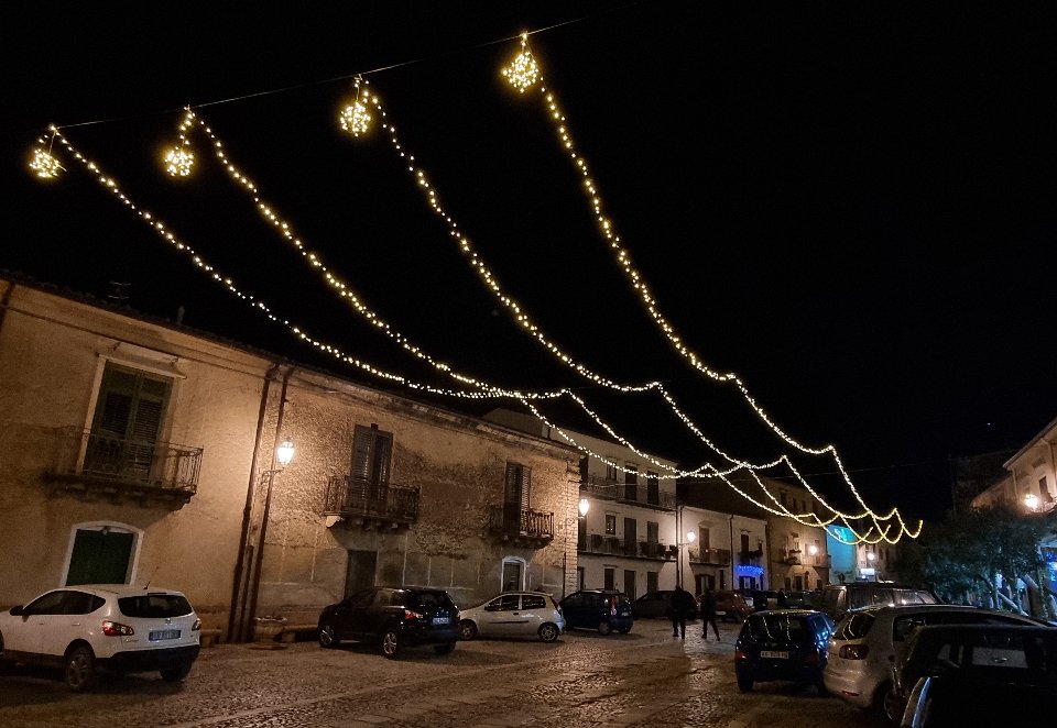
M 0 446 L 4 606 L 152 583 L 244 639 L 362 585 L 576 583 L 568 445 L 11 277 Z

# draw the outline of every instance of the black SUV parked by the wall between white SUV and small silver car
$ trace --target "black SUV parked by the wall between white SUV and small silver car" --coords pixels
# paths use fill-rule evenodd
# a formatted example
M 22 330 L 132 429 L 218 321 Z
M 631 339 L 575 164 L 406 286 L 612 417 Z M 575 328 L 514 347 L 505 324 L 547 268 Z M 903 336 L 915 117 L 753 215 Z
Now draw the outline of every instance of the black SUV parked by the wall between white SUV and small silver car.
M 458 639 L 459 609 L 443 589 L 375 586 L 319 614 L 319 644 L 325 648 L 341 640 L 377 642 L 392 659 L 413 644 L 433 644 L 437 654 L 447 654 Z

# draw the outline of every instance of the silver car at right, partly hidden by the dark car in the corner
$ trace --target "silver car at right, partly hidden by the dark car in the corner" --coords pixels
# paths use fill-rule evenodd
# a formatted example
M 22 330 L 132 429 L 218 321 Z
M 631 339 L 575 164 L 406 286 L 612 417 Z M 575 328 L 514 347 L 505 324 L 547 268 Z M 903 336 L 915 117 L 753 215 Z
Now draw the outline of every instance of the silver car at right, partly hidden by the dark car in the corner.
M 883 710 L 898 725 L 904 701 L 892 690 L 896 651 L 915 627 L 923 625 L 1035 625 L 1010 611 L 954 604 L 875 606 L 849 611 L 829 638 L 822 672 L 826 688 L 863 709 Z

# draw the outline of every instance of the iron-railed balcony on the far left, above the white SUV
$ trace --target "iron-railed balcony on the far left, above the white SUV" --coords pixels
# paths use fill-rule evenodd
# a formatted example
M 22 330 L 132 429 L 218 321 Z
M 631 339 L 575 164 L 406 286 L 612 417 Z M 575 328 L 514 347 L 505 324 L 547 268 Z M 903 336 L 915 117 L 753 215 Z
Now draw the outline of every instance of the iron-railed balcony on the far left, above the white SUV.
M 201 448 L 115 438 L 80 428 L 56 430 L 56 461 L 44 473 L 52 493 L 163 500 L 183 506 L 198 492 Z

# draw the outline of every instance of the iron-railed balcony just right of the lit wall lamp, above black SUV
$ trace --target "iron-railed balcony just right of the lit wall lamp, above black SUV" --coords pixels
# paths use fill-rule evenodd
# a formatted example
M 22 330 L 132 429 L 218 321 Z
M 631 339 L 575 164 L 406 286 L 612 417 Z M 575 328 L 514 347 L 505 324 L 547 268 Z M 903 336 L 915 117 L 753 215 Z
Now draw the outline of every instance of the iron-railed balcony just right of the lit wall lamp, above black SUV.
M 406 528 L 418 519 L 418 488 L 335 475 L 327 483 L 324 516 L 339 516 L 363 529 Z

